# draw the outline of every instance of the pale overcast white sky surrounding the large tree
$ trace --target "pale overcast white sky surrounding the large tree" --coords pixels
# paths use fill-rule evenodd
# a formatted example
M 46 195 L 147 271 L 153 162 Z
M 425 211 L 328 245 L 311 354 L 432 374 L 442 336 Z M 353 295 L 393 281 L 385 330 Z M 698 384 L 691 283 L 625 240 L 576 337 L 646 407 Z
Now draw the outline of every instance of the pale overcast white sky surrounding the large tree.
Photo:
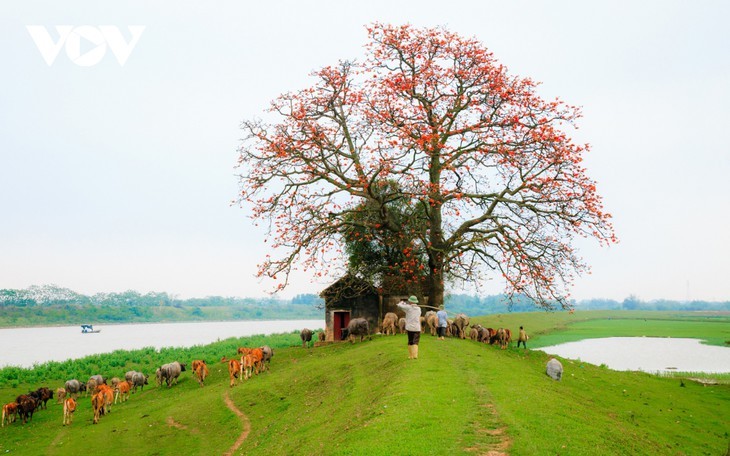
M 476 37 L 582 108 L 620 243 L 577 243 L 573 298 L 730 300 L 730 3 L 701 0 L 4 1 L 0 289 L 266 296 L 265 232 L 232 204 L 239 125 L 363 58 L 376 21 Z

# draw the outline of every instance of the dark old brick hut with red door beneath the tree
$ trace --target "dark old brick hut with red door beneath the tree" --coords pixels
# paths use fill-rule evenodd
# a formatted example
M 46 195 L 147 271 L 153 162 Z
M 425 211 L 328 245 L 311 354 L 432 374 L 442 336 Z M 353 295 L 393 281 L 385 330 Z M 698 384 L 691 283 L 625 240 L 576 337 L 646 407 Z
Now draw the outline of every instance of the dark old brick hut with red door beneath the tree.
M 403 317 L 396 304 L 408 295 L 381 295 L 370 282 L 346 275 L 325 288 L 319 296 L 324 299 L 325 340 L 342 340 L 342 330 L 353 318 L 365 318 L 370 333 L 380 330 L 383 316 L 394 312 Z

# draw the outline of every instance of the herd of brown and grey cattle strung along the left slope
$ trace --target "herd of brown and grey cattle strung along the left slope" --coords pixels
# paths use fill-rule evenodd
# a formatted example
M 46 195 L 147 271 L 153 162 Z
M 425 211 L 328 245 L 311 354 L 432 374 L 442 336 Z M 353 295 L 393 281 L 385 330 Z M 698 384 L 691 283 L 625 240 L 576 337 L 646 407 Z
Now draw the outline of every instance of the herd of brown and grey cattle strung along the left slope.
M 230 386 L 235 385 L 235 380 L 248 380 L 254 374 L 269 369 L 271 358 L 274 351 L 268 345 L 258 348 L 241 347 L 238 354 L 242 355 L 241 360 L 222 358 L 221 362 L 228 364 L 228 372 L 231 378 Z M 187 364 L 174 361 L 163 364 L 155 371 L 155 379 L 157 386 L 163 384 L 167 387 L 177 383 L 182 372 L 185 372 Z M 194 360 L 191 363 L 193 376 L 200 386 L 205 385 L 205 378 L 209 374 L 208 366 L 203 360 Z M 137 388 L 144 390 L 144 386 L 148 385 L 149 375 L 142 372 L 129 371 L 124 374 L 124 379 L 113 377 L 107 381 L 106 377 L 101 375 L 92 375 L 86 382 L 77 379 L 68 380 L 62 388 L 55 391 L 48 387 L 38 388 L 28 394 L 21 394 L 15 399 L 15 402 L 9 402 L 2 408 L 2 426 L 13 423 L 17 418 L 25 424 L 33 418 L 33 413 L 37 410 L 47 409 L 49 400 L 56 396 L 57 403 L 63 404 L 63 425 L 71 424 L 74 412 L 76 411 L 77 400 L 80 395 L 91 397 L 91 408 L 93 410 L 93 423 L 99 422 L 99 419 L 111 411 L 112 404 L 125 402 L 129 399 L 130 392 L 137 392 Z

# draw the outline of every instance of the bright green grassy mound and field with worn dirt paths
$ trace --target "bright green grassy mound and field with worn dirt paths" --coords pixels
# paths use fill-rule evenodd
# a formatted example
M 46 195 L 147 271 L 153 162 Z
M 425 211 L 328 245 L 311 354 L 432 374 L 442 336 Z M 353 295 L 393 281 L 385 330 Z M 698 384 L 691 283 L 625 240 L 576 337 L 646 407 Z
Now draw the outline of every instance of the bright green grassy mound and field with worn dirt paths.
M 677 319 L 636 316 L 661 317 L 662 324 Z M 536 346 L 574 323 L 583 331 L 581 325 L 595 320 L 610 331 L 600 323 L 609 317 L 627 316 L 529 313 L 476 320 L 513 331 L 522 324 Z M 204 388 L 184 372 L 172 388 L 151 386 L 115 405 L 97 425 L 88 398 L 66 427 L 61 406 L 49 403 L 28 424 L 0 430 L 0 454 L 725 455 L 729 449 L 728 385 L 565 359 L 563 380 L 555 382 L 544 373 L 549 357 L 536 350 L 424 335 L 419 359 L 409 360 L 403 335 L 313 349 L 293 346 L 295 336 L 287 335 L 277 342 L 270 372 L 229 388 L 225 365 L 216 361 L 235 355 L 237 344 L 259 343 L 229 340 L 178 353 L 189 358 L 181 361 L 209 362 Z M 155 361 L 147 355 L 138 361 Z M 113 356 L 122 359 L 124 352 Z M 145 372 L 155 367 L 137 366 Z M 120 375 L 127 367 L 102 373 Z M 42 384 L 55 388 L 63 380 L 46 377 Z M 42 384 L 0 383 L 0 400 Z

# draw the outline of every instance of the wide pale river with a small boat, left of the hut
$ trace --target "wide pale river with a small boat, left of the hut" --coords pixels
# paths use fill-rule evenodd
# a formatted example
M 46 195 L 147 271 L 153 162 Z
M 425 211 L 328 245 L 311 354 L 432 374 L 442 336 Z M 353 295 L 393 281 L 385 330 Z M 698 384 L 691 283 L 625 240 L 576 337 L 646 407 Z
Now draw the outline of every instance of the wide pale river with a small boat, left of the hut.
M 324 328 L 324 320 L 222 321 L 95 325 L 101 332 L 82 334 L 80 326 L 0 329 L 0 368 L 32 367 L 114 350 L 144 347 L 192 347 L 256 334 Z

